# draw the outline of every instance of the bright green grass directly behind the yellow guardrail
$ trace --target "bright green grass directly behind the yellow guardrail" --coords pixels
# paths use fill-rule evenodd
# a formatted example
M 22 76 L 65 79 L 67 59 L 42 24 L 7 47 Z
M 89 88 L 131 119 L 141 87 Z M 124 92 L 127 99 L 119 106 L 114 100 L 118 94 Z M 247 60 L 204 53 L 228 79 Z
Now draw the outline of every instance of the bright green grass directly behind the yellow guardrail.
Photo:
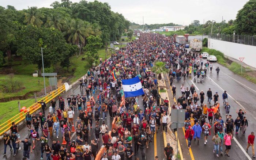
M 20 108 L 23 106 L 29 107 L 35 103 L 35 99 L 19 100 Z M 14 117 L 19 113 L 18 100 L 0 103 L 0 124 L 6 122 L 8 119 Z M 10 112 L 11 111 L 11 112 Z

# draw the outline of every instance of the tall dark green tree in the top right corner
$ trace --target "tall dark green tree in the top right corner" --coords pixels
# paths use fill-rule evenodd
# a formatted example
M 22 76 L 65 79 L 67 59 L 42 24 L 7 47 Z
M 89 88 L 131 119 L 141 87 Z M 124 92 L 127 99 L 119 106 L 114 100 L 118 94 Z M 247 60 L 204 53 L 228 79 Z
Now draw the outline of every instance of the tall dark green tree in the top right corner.
M 235 26 L 239 34 L 256 35 L 256 0 L 249 0 L 237 13 Z

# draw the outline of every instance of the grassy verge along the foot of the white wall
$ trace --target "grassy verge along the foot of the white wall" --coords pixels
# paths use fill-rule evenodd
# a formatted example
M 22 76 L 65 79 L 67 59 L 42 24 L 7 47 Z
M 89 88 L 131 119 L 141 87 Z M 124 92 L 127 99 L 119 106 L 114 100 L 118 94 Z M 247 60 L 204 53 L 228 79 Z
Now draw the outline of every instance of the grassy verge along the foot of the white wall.
M 252 72 L 251 69 L 242 67 L 242 72 L 241 72 L 241 64 L 238 64 L 237 62 L 232 62 L 229 65 L 226 61 L 226 58 L 224 57 L 224 54 L 218 50 L 203 47 L 202 52 L 207 52 L 210 55 L 216 56 L 217 62 L 219 64 L 227 67 L 233 73 L 240 75 L 240 76 L 244 77 L 246 80 L 251 81 L 252 83 L 256 84 L 256 77 L 252 77 L 249 74 L 249 72 Z

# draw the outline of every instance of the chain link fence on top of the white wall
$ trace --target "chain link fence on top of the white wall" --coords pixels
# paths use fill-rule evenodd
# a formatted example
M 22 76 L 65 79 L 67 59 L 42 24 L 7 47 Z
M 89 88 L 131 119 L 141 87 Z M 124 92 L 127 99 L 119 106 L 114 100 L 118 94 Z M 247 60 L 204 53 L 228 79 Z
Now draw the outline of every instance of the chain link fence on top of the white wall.
M 226 35 L 226 34 L 211 34 L 209 38 L 217 39 L 220 41 L 227 41 L 233 43 L 240 43 L 243 45 L 256 46 L 256 35 Z

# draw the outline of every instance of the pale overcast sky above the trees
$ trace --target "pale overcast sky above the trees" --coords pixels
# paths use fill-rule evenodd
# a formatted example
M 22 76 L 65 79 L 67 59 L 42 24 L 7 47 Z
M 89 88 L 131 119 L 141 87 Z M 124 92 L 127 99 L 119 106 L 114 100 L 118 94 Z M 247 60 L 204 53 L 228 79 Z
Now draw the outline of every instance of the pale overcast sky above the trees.
M 50 7 L 55 0 L 0 0 L 5 7 L 13 5 L 16 9 L 26 9 L 27 6 Z M 60 1 L 60 0 L 59 0 Z M 79 2 L 80 0 L 71 0 Z M 93 1 L 93 0 L 87 0 Z M 235 19 L 237 11 L 248 0 L 98 0 L 107 2 L 112 11 L 124 15 L 131 22 L 144 23 L 176 23 L 190 24 L 193 20 L 200 23 L 207 20 L 221 22 Z

